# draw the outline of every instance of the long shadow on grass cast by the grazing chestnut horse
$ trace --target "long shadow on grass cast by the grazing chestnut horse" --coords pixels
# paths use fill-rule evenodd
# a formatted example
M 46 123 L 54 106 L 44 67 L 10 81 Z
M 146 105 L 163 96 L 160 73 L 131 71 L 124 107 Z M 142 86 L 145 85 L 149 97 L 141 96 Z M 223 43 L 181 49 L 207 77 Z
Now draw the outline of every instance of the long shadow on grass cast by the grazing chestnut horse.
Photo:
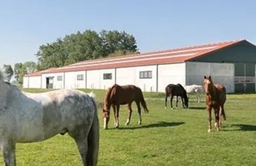
M 134 127 L 120 127 L 119 130 L 135 130 L 141 128 L 154 128 L 154 127 L 171 127 L 171 126 L 179 126 L 183 125 L 185 122 L 158 122 L 149 125 L 141 125 L 141 126 L 134 126 Z

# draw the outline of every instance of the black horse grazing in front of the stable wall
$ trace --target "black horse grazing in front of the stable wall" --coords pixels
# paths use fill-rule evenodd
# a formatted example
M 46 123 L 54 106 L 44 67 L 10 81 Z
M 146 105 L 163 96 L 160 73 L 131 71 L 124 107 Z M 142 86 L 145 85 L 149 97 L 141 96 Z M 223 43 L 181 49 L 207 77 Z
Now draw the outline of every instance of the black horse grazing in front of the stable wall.
M 172 100 L 173 97 L 176 96 L 176 107 L 178 107 L 178 96 L 181 96 L 182 98 L 182 106 L 183 108 L 189 107 L 189 98 L 187 96 L 187 92 L 184 89 L 184 87 L 181 84 L 169 84 L 165 87 L 165 108 L 167 108 L 167 98 L 170 96 L 170 103 L 171 103 L 171 109 L 173 109 L 172 106 Z M 184 106 L 185 105 L 185 106 Z

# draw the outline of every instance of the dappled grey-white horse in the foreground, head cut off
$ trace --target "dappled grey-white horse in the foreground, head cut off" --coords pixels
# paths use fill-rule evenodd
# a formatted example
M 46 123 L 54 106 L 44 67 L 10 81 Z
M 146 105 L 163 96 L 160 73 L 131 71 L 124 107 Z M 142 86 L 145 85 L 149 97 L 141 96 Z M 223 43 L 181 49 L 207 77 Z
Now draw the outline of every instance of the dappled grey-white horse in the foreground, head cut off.
M 84 166 L 96 166 L 99 120 L 92 97 L 77 90 L 24 93 L 0 72 L 0 147 L 6 166 L 15 166 L 16 142 L 28 143 L 68 133 Z

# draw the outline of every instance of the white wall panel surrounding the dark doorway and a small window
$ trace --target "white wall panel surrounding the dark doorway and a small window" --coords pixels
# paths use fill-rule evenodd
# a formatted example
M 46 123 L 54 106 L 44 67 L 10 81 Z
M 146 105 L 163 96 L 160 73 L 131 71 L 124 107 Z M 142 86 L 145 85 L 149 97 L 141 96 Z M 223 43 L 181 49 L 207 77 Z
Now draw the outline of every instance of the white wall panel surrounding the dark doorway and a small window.
M 62 76 L 62 80 L 58 81 L 57 77 Z M 42 74 L 42 88 L 46 89 L 46 78 L 47 77 L 54 77 L 54 89 L 62 89 L 64 88 L 64 73 L 47 73 L 47 74 Z

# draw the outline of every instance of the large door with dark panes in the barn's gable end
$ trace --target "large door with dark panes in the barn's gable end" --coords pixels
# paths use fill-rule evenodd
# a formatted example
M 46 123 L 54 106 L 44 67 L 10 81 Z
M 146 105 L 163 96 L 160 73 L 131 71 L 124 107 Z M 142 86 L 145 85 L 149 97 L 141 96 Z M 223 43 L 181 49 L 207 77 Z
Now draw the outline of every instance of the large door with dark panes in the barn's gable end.
M 255 92 L 255 65 L 236 63 L 234 83 L 235 92 Z

